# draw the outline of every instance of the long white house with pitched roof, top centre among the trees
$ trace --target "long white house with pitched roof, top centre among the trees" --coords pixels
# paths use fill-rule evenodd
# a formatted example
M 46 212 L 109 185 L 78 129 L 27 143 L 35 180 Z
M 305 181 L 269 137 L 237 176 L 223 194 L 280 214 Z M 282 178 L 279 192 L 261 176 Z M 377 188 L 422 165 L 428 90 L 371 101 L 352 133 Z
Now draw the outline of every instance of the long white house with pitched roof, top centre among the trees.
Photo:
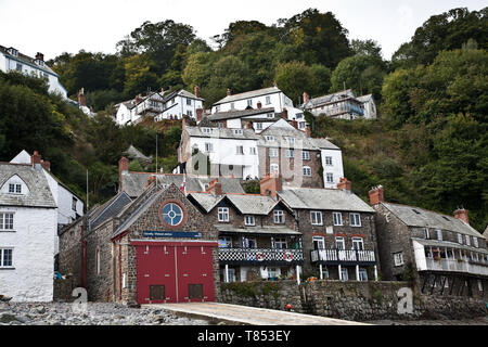
M 258 110 L 261 107 L 273 107 L 274 113 L 281 113 L 283 110 L 286 110 L 288 119 L 295 119 L 298 123 L 298 129 L 305 131 L 307 124 L 304 118 L 304 112 L 294 107 L 292 99 L 286 97 L 278 87 L 264 88 L 234 95 L 228 89 L 227 97 L 211 106 L 211 113 Z

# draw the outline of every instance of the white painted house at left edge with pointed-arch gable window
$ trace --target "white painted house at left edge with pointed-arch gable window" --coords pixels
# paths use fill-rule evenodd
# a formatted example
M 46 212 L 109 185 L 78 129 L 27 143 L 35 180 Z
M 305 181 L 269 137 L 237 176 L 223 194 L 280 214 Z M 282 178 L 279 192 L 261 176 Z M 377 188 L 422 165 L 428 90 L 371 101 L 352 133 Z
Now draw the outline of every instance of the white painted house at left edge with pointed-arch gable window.
M 52 301 L 57 207 L 40 163 L 0 163 L 0 294 Z

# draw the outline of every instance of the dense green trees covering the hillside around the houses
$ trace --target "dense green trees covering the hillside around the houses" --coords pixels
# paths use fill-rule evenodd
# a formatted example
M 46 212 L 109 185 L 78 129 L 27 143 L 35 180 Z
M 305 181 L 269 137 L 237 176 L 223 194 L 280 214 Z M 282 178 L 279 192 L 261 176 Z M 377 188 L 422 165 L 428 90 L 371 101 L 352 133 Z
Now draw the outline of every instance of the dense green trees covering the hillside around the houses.
M 313 118 L 312 133 L 343 149 L 346 177 L 368 198 L 383 184 L 390 202 L 446 214 L 470 210 L 472 224 L 488 223 L 487 9 L 453 9 L 432 16 L 409 42 L 382 56 L 373 40 L 348 40 L 334 14 L 309 9 L 273 25 L 236 21 L 213 37 L 197 38 L 192 26 L 145 22 L 117 43 L 116 54 L 64 53 L 49 64 L 76 99 L 99 114 L 88 118 L 50 95 L 46 82 L 0 75 L 0 157 L 40 151 L 52 170 L 85 196 L 89 171 L 91 205 L 113 195 L 117 160 L 130 144 L 156 154 L 167 172 L 176 163 L 181 129 L 171 121 L 118 128 L 108 117 L 113 103 L 146 90 L 200 86 L 206 106 L 233 93 L 277 83 L 295 104 L 351 88 L 373 93 L 374 121 Z M 156 169 L 132 162 L 133 170 Z M 254 185 L 253 185 L 254 184 Z M 255 191 L 255 182 L 246 188 Z

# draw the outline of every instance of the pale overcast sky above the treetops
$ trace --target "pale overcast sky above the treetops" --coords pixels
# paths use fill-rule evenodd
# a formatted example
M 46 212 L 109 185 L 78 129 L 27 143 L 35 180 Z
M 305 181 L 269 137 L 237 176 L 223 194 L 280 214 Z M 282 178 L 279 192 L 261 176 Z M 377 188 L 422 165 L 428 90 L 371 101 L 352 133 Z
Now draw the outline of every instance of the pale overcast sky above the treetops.
M 144 21 L 174 20 L 207 39 L 230 23 L 271 25 L 309 8 L 331 11 L 349 39 L 373 39 L 385 59 L 429 16 L 453 8 L 478 11 L 486 0 L 0 0 L 0 44 L 50 60 L 63 52 L 115 53 L 115 44 Z

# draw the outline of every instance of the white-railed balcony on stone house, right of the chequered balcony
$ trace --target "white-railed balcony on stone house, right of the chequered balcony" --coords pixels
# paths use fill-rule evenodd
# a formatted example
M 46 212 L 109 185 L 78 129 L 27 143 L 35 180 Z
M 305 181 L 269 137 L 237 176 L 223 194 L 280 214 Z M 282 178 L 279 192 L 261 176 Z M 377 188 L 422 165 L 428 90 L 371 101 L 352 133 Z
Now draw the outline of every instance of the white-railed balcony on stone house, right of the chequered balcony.
M 310 253 L 311 262 L 322 265 L 375 265 L 374 250 L 359 249 L 314 249 Z

